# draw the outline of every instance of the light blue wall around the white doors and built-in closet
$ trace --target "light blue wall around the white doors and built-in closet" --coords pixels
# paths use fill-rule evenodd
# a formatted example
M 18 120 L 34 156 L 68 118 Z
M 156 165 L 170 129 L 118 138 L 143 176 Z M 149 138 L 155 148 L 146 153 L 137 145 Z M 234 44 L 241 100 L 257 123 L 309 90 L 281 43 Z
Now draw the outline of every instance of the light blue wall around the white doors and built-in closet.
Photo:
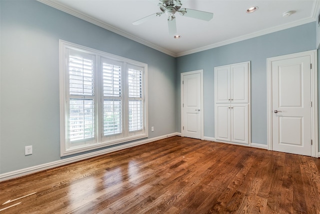
M 218 33 L 218 32 L 217 32 Z M 251 61 L 251 142 L 266 144 L 266 59 L 316 49 L 314 22 L 177 58 L 176 129 L 180 130 L 180 73 L 204 71 L 204 136 L 214 137 L 216 66 Z

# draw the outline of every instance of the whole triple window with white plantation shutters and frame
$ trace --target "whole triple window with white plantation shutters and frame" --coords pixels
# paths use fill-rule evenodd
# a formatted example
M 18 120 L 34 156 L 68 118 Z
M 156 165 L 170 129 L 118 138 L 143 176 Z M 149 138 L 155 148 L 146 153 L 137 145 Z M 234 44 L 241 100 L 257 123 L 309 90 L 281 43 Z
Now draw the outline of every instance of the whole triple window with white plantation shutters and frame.
M 61 156 L 147 137 L 147 65 L 59 45 Z

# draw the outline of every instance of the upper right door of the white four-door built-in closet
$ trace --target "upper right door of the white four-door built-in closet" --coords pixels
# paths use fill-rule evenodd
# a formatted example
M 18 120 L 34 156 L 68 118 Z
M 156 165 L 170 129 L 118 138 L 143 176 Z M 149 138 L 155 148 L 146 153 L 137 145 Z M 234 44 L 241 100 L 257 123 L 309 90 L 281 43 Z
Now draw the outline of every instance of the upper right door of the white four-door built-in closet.
M 241 63 L 231 66 L 231 102 L 232 103 L 248 103 L 248 80 L 249 80 L 249 63 Z

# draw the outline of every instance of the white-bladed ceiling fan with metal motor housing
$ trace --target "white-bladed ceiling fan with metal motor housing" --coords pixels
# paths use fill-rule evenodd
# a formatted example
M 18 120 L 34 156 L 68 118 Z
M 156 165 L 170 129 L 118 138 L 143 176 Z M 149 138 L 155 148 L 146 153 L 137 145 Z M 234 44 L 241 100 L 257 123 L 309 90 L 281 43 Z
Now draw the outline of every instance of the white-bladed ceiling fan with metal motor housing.
M 151 14 L 147 17 L 144 17 L 142 19 L 139 19 L 133 22 L 132 24 L 140 25 L 152 19 L 155 16 L 159 17 L 162 14 L 166 14 L 168 16 L 167 21 L 168 21 L 169 34 L 173 35 L 176 33 L 176 24 L 175 24 L 175 16 L 174 16 L 176 12 L 178 12 L 178 14 L 180 14 L 181 16 L 204 20 L 204 21 L 210 21 L 213 18 L 212 13 L 181 8 L 182 4 L 181 4 L 181 1 L 179 0 L 159 0 L 159 1 L 160 3 L 158 3 L 158 6 L 161 12 Z

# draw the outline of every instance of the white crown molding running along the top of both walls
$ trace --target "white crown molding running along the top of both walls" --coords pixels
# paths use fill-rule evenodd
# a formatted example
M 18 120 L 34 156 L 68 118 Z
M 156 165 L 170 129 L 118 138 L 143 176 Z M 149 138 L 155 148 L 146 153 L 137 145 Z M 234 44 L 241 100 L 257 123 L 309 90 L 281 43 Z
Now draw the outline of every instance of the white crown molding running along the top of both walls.
M 299 26 L 299 25 L 303 25 L 303 24 L 307 24 L 307 23 L 310 23 L 310 22 L 314 22 L 316 21 L 316 18 L 317 18 L 317 15 L 318 15 L 318 11 L 320 9 L 320 1 L 314 1 L 313 3 L 313 7 L 312 7 L 312 11 L 311 11 L 311 16 L 308 17 L 308 18 L 304 18 L 304 19 L 301 19 L 301 20 L 298 20 L 296 22 L 291 22 L 289 24 L 285 24 L 285 25 L 279 25 L 279 26 L 275 26 L 275 27 L 272 27 L 272 28 L 268 28 L 268 29 L 264 29 L 264 30 L 261 30 L 261 31 L 257 31 L 257 32 L 254 32 L 252 34 L 247 34 L 247 35 L 244 35 L 244 36 L 240 36 L 240 37 L 237 37 L 237 38 L 234 38 L 234 39 L 230 39 L 230 40 L 225 40 L 225 41 L 222 41 L 222 42 L 219 42 L 219 43 L 215 43 L 215 44 L 212 44 L 212 45 L 208 45 L 208 46 L 204 46 L 204 47 L 201 47 L 201 48 L 197 48 L 197 49 L 192 49 L 192 50 L 189 50 L 189 51 L 185 51 L 185 52 L 180 52 L 180 53 L 173 53 L 171 51 L 168 51 L 164 48 L 161 48 L 159 46 L 156 46 L 154 44 L 151 44 L 145 40 L 142 40 L 140 38 L 137 38 L 133 35 L 130 35 L 128 33 L 125 33 L 123 31 L 120 31 L 119 29 L 116 29 L 110 25 L 107 25 L 97 19 L 94 19 L 93 17 L 89 17 L 89 16 L 86 16 L 76 10 L 73 10 L 65 5 L 62 5 L 56 1 L 49 1 L 49 0 L 37 0 L 38 2 L 40 3 L 43 3 L 45 5 L 48 5 L 52 8 L 55 8 L 57 10 L 60 10 L 60 11 L 63 11 L 67 14 L 70 14 L 72 16 L 75 16 L 79 19 L 82 19 L 82 20 L 85 20 L 89 23 L 92 23 L 96 26 L 99 26 L 101 28 L 104 28 L 108 31 L 111 31 L 113 33 L 116 33 L 118 35 L 121 35 L 123 37 L 126 37 L 130 40 L 133 40 L 135 42 L 138 42 L 142 45 L 145 45 L 147 47 L 150 47 L 152 49 L 155 49 L 157 51 L 160 51 L 164 54 L 167 54 L 169 56 L 172 56 L 172 57 L 181 57 L 181 56 L 184 56 L 184 55 L 188 55 L 188 54 L 193 54 L 193 53 L 197 53 L 197 52 L 200 52 L 200 51 L 205 51 L 205 50 L 208 50 L 208 49 L 212 49 L 212 48 L 216 48 L 216 47 L 220 47 L 220 46 L 224 46 L 224 45 L 228 45 L 228 44 L 231 44 L 231 43 L 235 43 L 235 42 L 239 42 L 239 41 L 243 41 L 243 40 L 247 40 L 247 39 L 251 39 L 251 38 L 254 38 L 254 37 L 258 37 L 258 36 L 262 36 L 262 35 L 265 35 L 265 34 L 270 34 L 270 33 L 273 33 L 273 32 L 277 32 L 277 31 L 281 31 L 281 30 L 285 30 L 285 29 L 288 29 L 288 28 L 292 28 L 292 27 L 296 27 L 296 26 Z

